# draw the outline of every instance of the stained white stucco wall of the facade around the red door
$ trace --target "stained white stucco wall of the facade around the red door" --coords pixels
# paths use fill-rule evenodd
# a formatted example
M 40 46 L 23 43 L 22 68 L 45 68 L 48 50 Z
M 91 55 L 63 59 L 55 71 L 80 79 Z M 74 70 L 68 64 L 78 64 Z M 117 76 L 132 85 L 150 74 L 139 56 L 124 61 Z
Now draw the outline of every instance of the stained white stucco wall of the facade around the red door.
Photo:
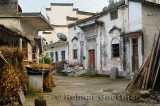
M 128 31 L 129 25 L 128 25 L 128 8 L 124 7 L 118 10 L 118 19 L 110 21 L 110 13 L 100 17 L 98 21 L 104 22 L 103 27 L 98 27 L 97 37 L 96 37 L 96 67 L 98 70 L 98 73 L 107 73 L 109 74 L 111 67 L 118 67 L 119 71 L 123 70 L 123 57 L 122 55 L 120 58 L 112 58 L 112 45 L 111 42 L 114 39 L 117 39 L 121 45 L 122 39 L 120 37 L 120 32 L 118 30 L 114 30 L 112 33 L 109 33 L 109 31 L 113 28 L 113 26 L 116 26 L 122 31 Z M 82 24 L 79 24 L 78 26 L 87 25 L 94 23 L 95 20 L 90 20 L 87 22 L 84 22 Z M 86 36 L 85 33 L 76 26 L 76 30 L 74 30 L 74 27 L 69 28 L 69 62 L 70 64 L 74 63 L 74 61 L 77 61 L 77 63 L 80 63 L 80 52 L 78 50 L 78 59 L 73 59 L 73 47 L 74 45 L 77 45 L 78 49 L 80 49 L 80 41 L 84 41 L 84 56 L 86 59 L 84 60 L 84 67 L 87 70 L 88 68 L 88 51 L 87 45 L 93 45 L 93 42 L 89 44 L 89 42 L 86 39 L 79 39 L 71 41 L 75 36 L 77 36 L 77 33 L 80 33 L 80 35 Z M 88 43 L 87 43 L 88 42 Z M 90 46 L 92 49 L 92 46 Z M 102 47 L 102 48 L 101 48 Z M 121 49 L 120 49 L 121 50 Z M 102 57 L 101 57 L 102 54 Z M 101 63 L 102 61 L 102 63 Z M 129 61 L 129 60 L 128 60 Z M 128 62 L 127 61 L 127 62 Z M 128 70 L 129 71 L 129 70 Z

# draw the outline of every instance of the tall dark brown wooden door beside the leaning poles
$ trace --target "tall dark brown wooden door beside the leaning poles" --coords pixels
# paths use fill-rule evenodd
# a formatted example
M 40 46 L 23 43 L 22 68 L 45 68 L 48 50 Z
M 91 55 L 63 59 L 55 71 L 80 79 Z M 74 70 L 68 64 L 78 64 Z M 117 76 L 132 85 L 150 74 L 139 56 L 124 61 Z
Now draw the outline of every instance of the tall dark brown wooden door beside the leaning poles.
M 132 71 L 138 71 L 139 62 L 138 62 L 138 38 L 132 39 L 133 42 L 133 56 L 132 56 Z

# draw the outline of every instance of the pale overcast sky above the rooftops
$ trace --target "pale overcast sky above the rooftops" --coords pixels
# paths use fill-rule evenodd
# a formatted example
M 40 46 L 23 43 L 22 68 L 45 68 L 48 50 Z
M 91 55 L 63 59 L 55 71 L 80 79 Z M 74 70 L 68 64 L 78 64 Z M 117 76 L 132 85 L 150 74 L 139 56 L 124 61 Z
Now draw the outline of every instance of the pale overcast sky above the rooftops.
M 74 8 L 82 11 L 100 12 L 108 5 L 108 0 L 19 0 L 23 12 L 40 12 L 45 15 L 45 8 L 50 3 L 74 3 Z

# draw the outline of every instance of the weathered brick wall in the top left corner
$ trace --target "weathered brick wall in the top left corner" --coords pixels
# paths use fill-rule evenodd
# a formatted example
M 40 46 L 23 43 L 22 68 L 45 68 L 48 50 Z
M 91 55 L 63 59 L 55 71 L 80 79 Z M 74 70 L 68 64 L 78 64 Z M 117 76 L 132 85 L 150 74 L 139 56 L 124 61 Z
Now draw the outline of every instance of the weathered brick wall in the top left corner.
M 13 16 L 17 14 L 18 0 L 0 0 L 0 15 Z

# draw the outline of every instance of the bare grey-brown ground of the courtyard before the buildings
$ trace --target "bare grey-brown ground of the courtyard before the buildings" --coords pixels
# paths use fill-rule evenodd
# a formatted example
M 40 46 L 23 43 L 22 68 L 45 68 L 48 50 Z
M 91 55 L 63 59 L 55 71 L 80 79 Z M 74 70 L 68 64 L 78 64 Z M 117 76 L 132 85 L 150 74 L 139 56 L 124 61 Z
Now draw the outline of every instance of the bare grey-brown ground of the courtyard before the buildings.
M 112 80 L 106 77 L 54 76 L 56 87 L 51 93 L 44 93 L 47 106 L 159 106 L 136 104 L 135 97 L 124 95 L 129 81 Z M 24 106 L 34 106 L 40 94 L 26 95 Z

